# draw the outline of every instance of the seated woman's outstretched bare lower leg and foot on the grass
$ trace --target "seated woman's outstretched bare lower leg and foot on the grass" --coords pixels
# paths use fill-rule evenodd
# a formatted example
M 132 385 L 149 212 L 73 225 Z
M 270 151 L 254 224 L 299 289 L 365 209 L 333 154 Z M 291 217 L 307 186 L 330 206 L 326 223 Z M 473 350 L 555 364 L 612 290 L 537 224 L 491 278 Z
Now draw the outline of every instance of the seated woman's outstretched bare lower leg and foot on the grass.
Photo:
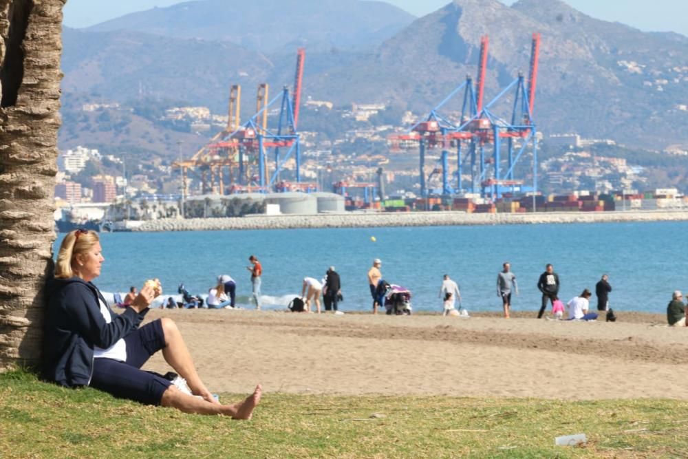
M 190 414 L 222 414 L 223 416 L 231 416 L 232 419 L 250 419 L 253 409 L 260 403 L 262 390 L 262 387 L 257 385 L 255 391 L 246 397 L 244 401 L 234 403 L 233 405 L 220 405 L 219 403 L 211 403 L 202 398 L 184 394 L 172 385 L 162 394 L 160 405 L 176 408 L 181 412 Z

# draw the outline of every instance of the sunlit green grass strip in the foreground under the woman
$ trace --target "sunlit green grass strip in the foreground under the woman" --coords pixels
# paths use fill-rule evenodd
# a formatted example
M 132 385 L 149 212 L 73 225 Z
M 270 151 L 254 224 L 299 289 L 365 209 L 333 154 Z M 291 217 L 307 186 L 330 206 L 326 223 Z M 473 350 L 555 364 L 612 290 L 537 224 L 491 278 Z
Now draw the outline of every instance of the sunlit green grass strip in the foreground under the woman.
M 239 422 L 0 375 L 3 458 L 679 458 L 687 429 L 687 402 L 438 396 L 266 394 Z

